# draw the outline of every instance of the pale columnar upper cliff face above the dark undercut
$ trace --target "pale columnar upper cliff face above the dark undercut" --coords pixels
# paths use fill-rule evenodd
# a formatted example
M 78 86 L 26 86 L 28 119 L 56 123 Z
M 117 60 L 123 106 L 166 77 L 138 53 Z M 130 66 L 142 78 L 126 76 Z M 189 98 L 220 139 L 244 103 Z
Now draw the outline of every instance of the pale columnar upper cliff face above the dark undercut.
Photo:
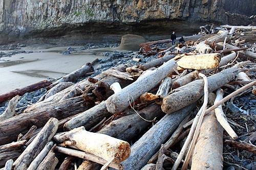
M 224 22 L 224 0 L 2 0 L 2 41 L 15 37 L 56 32 L 89 22 L 131 24 L 146 20 L 181 19 Z M 0 40 L 0 41 L 1 41 Z

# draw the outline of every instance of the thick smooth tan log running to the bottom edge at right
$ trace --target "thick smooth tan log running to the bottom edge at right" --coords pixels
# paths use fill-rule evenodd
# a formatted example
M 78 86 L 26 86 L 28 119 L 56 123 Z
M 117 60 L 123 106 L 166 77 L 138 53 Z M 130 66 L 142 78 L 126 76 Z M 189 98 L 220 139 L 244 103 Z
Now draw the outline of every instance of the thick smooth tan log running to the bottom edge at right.
M 220 101 L 216 98 L 216 101 Z M 223 128 L 218 123 L 215 111 L 204 117 L 195 145 L 191 169 L 222 169 Z

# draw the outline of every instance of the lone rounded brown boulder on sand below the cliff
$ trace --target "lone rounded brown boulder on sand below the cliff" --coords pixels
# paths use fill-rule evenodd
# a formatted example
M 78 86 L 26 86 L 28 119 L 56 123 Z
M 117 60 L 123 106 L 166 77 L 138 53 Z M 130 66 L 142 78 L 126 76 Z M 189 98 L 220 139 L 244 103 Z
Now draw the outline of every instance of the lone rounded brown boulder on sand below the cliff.
M 117 47 L 118 50 L 138 51 L 141 43 L 145 43 L 146 39 L 139 35 L 126 34 L 122 36 L 121 43 Z

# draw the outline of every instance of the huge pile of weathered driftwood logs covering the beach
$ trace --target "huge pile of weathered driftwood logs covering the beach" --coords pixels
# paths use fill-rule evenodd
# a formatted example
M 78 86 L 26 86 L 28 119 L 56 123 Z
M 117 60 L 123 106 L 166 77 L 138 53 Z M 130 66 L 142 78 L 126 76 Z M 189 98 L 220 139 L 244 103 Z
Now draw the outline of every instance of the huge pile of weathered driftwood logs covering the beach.
M 249 61 L 236 61 L 256 54 L 230 43 L 236 31 L 232 27 L 201 37 L 196 45 L 179 46 L 178 55 L 173 46 L 143 65 L 124 64 L 71 83 L 93 71 L 92 64 L 85 64 L 51 85 L 37 84 L 36 88 L 48 86 L 48 92 L 18 115 L 17 94 L 34 86 L 0 95 L 1 102 L 11 99 L 0 116 L 0 166 L 222 169 L 223 128 L 232 138 L 226 143 L 256 153 L 250 143 L 255 133 L 247 142 L 236 141 L 222 110 L 224 102 L 246 89 L 252 87 L 256 94 L 256 81 L 244 72 Z M 246 85 L 223 98 L 221 88 L 238 80 Z M 169 150 L 184 137 L 178 153 Z

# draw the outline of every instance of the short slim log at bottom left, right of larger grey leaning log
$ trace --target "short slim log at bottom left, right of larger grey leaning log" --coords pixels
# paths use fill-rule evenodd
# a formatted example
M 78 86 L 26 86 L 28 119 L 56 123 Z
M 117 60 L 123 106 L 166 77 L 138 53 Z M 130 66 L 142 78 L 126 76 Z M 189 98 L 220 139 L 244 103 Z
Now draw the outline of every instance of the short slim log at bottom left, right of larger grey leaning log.
M 42 149 L 42 151 L 35 157 L 35 159 L 30 163 L 27 170 L 34 170 L 37 168 L 37 166 L 42 162 L 42 160 L 45 159 L 45 157 L 48 155 L 49 151 L 53 147 L 53 142 L 50 141 L 46 144 L 45 148 Z

